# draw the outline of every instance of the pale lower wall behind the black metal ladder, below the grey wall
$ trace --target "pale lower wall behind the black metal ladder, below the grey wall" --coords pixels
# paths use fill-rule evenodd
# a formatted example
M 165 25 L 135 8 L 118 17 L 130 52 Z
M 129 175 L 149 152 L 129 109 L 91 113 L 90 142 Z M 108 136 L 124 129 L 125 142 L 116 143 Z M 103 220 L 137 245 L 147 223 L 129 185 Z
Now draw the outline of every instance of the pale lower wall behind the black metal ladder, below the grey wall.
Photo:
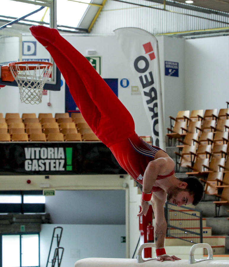
M 65 250 L 61 266 L 73 267 L 76 260 L 89 257 L 126 258 L 126 244 L 121 243 L 121 236 L 126 236 L 125 225 L 42 224 L 40 267 L 46 266 L 53 229 L 57 226 L 63 227 L 60 247 Z M 55 244 L 56 238 L 53 248 Z

